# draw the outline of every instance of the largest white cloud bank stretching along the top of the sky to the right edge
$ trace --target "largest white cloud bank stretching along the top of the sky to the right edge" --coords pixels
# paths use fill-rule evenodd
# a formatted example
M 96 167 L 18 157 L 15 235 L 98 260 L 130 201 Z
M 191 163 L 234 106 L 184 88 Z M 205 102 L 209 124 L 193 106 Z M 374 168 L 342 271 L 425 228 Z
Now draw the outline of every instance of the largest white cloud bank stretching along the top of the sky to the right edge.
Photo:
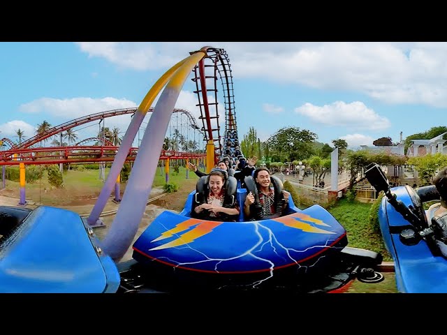
M 360 91 L 386 103 L 447 107 L 447 43 L 77 43 L 90 57 L 135 70 L 167 70 L 189 52 L 226 50 L 233 75 L 316 89 Z

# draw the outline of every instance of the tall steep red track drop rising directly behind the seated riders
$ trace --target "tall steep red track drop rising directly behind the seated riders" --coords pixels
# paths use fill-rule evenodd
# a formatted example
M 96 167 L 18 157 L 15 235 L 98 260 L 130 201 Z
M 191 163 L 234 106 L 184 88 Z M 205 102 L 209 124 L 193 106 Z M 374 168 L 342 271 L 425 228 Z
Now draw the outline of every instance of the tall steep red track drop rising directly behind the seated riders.
M 212 141 L 215 148 L 215 156 L 225 154 L 222 146 L 222 136 L 219 127 L 218 89 L 217 81 L 220 79 L 223 88 L 223 103 L 225 109 L 225 134 L 223 143 L 228 147 L 230 156 L 235 155 L 235 147 L 239 146 L 237 135 L 235 101 L 233 94 L 233 76 L 231 75 L 230 61 L 223 49 L 207 48 L 207 56 L 198 62 L 193 68 L 193 82 L 196 83 L 198 96 L 197 106 L 200 108 L 200 117 L 205 133 L 205 141 Z M 219 78 L 218 78 L 219 75 Z M 207 83 L 211 82 L 211 87 Z M 208 101 L 207 93 L 214 93 L 214 102 Z M 214 106 L 214 108 L 211 108 Z M 213 124 L 213 121 L 214 124 Z

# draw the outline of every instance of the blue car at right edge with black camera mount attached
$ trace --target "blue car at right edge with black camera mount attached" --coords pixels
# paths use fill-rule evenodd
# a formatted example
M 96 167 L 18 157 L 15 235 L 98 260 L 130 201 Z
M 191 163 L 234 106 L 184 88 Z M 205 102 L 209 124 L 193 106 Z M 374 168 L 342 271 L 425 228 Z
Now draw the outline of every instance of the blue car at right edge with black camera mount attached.
M 434 216 L 440 200 L 436 187 L 390 188 L 376 163 L 368 165 L 365 177 L 376 191 L 384 193 L 378 218 L 383 241 L 395 263 L 397 290 L 447 292 L 447 216 Z M 435 203 L 424 209 L 430 202 Z

